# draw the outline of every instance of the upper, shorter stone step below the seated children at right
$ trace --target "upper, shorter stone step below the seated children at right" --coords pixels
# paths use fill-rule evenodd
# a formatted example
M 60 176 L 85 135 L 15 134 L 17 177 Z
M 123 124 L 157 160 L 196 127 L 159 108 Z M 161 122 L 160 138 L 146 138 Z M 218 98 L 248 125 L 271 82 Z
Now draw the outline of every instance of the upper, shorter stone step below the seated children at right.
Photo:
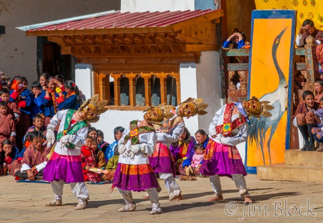
M 323 152 L 285 150 L 285 164 L 323 167 Z

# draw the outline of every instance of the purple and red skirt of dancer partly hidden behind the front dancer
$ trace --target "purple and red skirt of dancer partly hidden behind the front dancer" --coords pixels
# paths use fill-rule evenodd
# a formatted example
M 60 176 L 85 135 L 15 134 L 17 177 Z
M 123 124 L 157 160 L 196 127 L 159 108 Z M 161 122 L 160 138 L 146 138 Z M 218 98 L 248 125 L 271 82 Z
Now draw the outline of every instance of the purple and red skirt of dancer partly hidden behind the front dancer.
M 175 177 L 174 158 L 165 144 L 156 144 L 153 155 L 149 157 L 149 163 L 155 172 L 172 173 Z

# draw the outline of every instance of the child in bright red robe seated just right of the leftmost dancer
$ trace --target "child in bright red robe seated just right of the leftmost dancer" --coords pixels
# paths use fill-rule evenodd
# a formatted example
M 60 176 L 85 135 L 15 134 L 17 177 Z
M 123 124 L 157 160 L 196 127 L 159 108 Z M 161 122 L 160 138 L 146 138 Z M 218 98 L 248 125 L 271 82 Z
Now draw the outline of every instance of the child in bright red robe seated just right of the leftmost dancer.
M 101 181 L 101 175 L 98 173 L 90 172 L 90 167 L 98 167 L 95 160 L 95 152 L 92 148 L 93 138 L 87 136 L 85 145 L 81 148 L 81 162 L 83 168 L 83 176 L 85 181 Z

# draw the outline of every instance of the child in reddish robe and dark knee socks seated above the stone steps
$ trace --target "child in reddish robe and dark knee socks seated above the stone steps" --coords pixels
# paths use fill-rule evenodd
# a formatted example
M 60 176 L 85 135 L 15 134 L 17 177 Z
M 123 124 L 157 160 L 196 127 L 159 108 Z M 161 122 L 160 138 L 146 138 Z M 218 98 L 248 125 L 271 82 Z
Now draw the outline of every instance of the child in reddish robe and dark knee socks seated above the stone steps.
M 317 120 L 314 118 L 314 111 L 318 110 L 320 104 L 315 101 L 312 91 L 304 91 L 302 98 L 304 102 L 300 103 L 294 114 L 293 124 L 300 130 L 303 140 L 305 141 L 302 151 L 314 151 L 314 137 L 312 128 L 316 127 Z M 309 140 L 310 138 L 310 140 Z

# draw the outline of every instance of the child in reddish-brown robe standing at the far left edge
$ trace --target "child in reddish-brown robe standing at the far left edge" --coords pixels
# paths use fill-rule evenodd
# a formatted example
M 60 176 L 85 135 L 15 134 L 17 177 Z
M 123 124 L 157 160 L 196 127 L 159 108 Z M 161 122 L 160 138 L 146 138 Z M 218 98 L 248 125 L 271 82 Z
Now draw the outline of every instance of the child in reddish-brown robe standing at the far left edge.
M 12 120 L 12 116 L 7 114 L 7 103 L 0 102 L 0 144 L 5 139 L 10 139 L 12 143 L 15 141 L 16 126 Z

